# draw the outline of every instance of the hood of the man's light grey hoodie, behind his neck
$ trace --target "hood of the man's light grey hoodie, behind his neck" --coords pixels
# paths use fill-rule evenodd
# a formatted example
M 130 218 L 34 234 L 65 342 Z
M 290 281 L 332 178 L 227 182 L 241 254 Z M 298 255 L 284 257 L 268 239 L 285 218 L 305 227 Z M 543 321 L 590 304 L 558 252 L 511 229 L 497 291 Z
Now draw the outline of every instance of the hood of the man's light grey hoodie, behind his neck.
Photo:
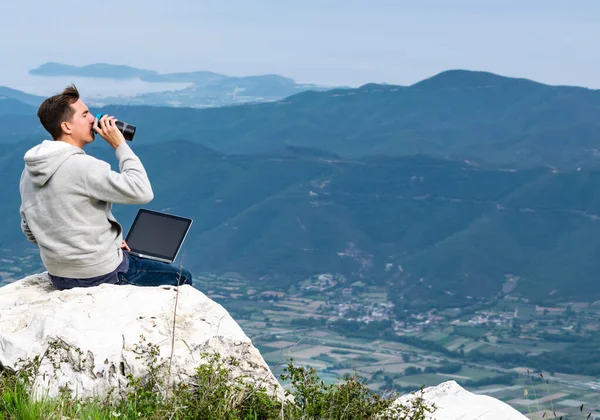
M 85 152 L 64 141 L 44 140 L 25 153 L 25 169 L 37 187 L 44 186 L 69 157 Z

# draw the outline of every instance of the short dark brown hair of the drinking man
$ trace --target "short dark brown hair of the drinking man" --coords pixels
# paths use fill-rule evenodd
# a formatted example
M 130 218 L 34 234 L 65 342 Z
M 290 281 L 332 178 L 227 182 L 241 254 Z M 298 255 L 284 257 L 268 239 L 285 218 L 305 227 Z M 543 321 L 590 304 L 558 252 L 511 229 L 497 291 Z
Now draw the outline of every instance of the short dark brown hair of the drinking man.
M 79 92 L 75 85 L 70 85 L 59 93 L 46 99 L 38 108 L 38 118 L 54 140 L 62 136 L 61 124 L 70 121 L 75 110 L 72 104 L 79 100 Z

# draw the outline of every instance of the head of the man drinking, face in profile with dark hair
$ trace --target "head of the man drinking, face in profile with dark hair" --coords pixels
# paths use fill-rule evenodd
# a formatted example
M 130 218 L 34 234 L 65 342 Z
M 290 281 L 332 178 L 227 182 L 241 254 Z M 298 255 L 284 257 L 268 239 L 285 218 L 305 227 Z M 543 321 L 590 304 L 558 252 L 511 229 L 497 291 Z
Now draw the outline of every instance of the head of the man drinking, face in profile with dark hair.
M 51 96 L 38 109 L 40 122 L 54 140 L 63 140 L 78 147 L 94 141 L 94 116 L 79 99 L 74 85 Z

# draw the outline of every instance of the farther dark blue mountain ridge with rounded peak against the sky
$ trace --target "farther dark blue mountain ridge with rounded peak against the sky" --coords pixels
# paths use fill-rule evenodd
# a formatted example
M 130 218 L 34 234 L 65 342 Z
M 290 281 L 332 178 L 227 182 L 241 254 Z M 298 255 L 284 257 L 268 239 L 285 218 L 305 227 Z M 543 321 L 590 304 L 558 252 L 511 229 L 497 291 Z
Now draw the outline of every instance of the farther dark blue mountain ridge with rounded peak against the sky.
M 137 125 L 145 143 L 187 139 L 223 153 L 299 146 L 348 158 L 425 154 L 557 170 L 600 163 L 600 91 L 485 72 L 447 71 L 408 87 L 369 84 L 216 109 L 102 110 Z M 0 141 L 42 133 L 35 118 L 10 120 L 3 124 L 0 116 Z

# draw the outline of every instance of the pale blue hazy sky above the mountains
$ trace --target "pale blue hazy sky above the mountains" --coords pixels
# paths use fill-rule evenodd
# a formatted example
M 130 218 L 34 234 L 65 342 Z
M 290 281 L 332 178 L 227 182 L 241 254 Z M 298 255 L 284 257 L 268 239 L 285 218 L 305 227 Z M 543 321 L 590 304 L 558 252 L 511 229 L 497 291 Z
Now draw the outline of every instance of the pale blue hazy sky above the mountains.
M 447 69 L 600 88 L 598 0 L 0 3 L 0 85 L 46 61 L 408 85 Z

